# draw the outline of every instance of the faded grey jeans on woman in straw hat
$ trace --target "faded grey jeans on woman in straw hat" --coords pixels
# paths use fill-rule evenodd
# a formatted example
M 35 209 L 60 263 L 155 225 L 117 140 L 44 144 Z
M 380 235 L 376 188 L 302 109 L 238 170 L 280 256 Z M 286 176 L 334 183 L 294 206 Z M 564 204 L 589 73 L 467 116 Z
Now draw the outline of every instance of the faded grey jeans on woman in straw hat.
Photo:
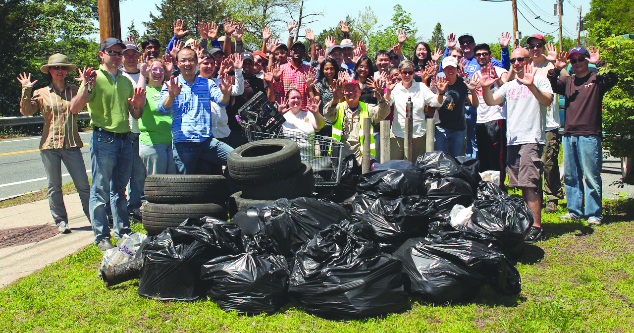
M 61 191 L 61 162 L 64 162 L 70 178 L 75 183 L 82 209 L 90 221 L 90 185 L 81 148 L 42 149 L 40 155 L 46 170 L 46 178 L 48 178 L 48 206 L 53 214 L 55 225 L 60 225 L 62 222 L 68 223 L 68 214 Z

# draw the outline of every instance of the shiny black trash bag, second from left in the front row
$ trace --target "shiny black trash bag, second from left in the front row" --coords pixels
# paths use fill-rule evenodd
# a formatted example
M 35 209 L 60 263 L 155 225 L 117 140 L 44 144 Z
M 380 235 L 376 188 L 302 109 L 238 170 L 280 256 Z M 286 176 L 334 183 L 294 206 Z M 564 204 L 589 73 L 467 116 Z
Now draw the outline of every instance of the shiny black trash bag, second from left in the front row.
M 283 256 L 243 253 L 211 259 L 202 266 L 200 279 L 224 311 L 259 315 L 287 302 L 288 275 Z

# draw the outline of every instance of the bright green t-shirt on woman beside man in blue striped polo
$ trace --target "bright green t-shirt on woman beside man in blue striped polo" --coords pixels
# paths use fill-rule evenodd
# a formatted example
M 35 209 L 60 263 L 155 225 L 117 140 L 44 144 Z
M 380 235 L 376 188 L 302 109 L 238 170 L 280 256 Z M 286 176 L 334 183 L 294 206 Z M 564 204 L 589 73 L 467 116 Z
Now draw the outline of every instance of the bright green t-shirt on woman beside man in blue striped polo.
M 159 113 L 160 89 L 150 86 L 145 88 L 146 102 L 143 107 L 143 115 L 139 119 L 139 142 L 148 145 L 163 145 L 172 143 L 172 115 Z

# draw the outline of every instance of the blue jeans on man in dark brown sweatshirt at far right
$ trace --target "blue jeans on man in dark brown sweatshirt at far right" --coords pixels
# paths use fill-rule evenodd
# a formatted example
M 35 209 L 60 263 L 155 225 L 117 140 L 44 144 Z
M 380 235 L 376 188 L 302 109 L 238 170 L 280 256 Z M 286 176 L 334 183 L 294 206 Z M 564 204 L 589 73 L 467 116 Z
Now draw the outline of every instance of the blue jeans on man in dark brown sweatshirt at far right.
M 568 211 L 581 218 L 602 219 L 601 138 L 595 135 L 564 135 L 564 186 Z M 585 186 L 581 181 L 585 178 Z

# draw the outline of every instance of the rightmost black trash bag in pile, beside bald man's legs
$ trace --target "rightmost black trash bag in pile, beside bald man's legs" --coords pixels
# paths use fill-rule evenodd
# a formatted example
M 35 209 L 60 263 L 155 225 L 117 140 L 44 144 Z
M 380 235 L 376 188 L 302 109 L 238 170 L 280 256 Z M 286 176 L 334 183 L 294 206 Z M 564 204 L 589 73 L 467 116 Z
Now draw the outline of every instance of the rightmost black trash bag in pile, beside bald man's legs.
M 471 221 L 475 232 L 496 238 L 502 251 L 516 259 L 524 252 L 524 237 L 533 225 L 533 213 L 521 198 L 476 200 Z

